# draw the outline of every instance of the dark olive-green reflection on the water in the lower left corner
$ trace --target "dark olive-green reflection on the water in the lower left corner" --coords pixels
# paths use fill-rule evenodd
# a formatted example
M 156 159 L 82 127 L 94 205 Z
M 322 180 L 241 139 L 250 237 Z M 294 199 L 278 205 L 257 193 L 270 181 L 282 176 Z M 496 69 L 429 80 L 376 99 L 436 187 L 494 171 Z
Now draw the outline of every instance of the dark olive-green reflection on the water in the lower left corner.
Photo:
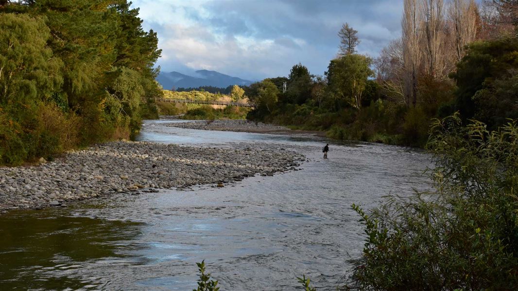
M 67 211 L 14 211 L 0 216 L 2 290 L 97 289 L 106 278 L 81 269 L 129 257 L 142 223 L 72 217 Z

